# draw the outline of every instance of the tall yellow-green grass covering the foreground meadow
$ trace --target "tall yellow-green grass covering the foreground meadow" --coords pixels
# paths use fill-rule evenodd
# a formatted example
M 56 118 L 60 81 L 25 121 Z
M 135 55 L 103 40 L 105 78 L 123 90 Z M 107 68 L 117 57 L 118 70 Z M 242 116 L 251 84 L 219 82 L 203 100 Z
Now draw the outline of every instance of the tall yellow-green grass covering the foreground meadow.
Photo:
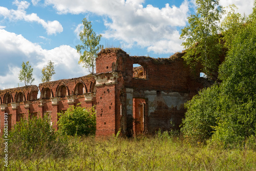
M 60 149 L 56 155 L 56 144 L 48 154 L 12 156 L 8 168 L 2 153 L 0 170 L 256 170 L 256 152 L 252 149 L 189 144 L 166 133 L 130 139 L 68 137 L 66 141 L 67 152 Z

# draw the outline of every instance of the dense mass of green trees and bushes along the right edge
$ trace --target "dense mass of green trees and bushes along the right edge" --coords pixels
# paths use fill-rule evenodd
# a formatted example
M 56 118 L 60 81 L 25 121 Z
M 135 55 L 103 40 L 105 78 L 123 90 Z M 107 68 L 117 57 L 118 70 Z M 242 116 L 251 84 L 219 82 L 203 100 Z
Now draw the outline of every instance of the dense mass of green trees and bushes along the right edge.
M 243 147 L 256 136 L 256 19 L 252 16 L 246 25 L 234 26 L 234 35 L 228 33 L 229 50 L 219 69 L 222 82 L 186 104 L 185 136 L 225 148 Z

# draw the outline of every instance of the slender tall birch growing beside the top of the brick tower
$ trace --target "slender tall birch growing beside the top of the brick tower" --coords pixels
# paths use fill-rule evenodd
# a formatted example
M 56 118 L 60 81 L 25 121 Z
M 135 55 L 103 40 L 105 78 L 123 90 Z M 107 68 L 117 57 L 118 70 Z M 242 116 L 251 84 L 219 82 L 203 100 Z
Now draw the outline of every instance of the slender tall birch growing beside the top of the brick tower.
M 99 45 L 102 35 L 96 35 L 92 29 L 91 22 L 88 22 L 86 18 L 82 20 L 83 31 L 80 32 L 80 40 L 83 45 L 77 45 L 76 50 L 80 55 L 79 64 L 83 63 L 83 67 L 88 68 L 91 74 L 94 74 L 96 69 L 96 57 L 100 49 L 103 48 Z M 92 69 L 92 71 L 90 71 Z

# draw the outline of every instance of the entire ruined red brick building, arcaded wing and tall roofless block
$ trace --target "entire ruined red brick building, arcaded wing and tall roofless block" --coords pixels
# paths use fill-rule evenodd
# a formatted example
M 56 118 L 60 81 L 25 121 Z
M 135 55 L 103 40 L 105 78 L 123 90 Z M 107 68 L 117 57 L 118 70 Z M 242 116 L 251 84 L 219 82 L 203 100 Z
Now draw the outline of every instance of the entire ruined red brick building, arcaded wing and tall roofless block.
M 0 128 L 4 129 L 4 113 L 9 114 L 9 128 L 20 118 L 47 113 L 57 129 L 57 113 L 81 103 L 84 107 L 96 105 L 97 136 L 119 130 L 131 136 L 179 129 L 184 103 L 205 86 L 200 73 L 190 72 L 182 55 L 155 59 L 103 49 L 94 75 L 1 90 Z

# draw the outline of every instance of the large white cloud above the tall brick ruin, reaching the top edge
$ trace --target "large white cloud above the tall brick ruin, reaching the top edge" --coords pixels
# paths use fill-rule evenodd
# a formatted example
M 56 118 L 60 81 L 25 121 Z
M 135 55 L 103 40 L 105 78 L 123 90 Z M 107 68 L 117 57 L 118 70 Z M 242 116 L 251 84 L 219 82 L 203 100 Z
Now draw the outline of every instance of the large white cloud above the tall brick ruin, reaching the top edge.
M 103 33 L 105 38 L 120 40 L 126 47 L 147 47 L 148 51 L 155 53 L 165 49 L 163 53 L 174 53 L 182 50 L 177 27 L 186 25 L 189 2 L 185 0 L 180 7 L 169 6 L 164 8 L 147 5 L 143 7 L 144 0 L 46 0 L 53 5 L 60 14 L 92 12 L 108 16 L 104 20 L 107 28 Z M 80 26 L 79 26 L 80 27 Z M 79 27 L 76 34 L 79 34 Z M 167 44 L 165 44 L 167 42 Z

